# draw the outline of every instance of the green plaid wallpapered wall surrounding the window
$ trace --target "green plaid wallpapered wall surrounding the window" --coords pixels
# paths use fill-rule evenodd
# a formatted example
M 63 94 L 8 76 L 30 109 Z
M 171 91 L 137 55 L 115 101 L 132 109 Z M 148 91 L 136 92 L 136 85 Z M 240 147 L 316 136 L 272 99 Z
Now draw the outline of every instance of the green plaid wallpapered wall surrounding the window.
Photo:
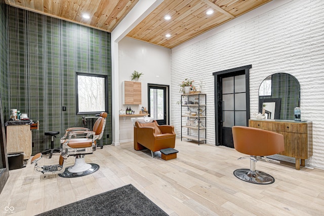
M 59 147 L 66 128 L 83 126 L 75 111 L 76 72 L 108 76 L 108 118 L 100 144 L 111 144 L 110 33 L 9 6 L 7 24 L 8 110 L 39 121 L 32 153 L 50 148 L 44 132 L 60 131 Z

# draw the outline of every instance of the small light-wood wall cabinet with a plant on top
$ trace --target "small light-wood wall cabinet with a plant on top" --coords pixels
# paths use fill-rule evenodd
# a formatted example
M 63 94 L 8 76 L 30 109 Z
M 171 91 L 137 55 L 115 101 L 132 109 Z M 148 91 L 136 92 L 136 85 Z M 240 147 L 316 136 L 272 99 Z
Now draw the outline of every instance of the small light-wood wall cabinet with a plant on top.
M 142 104 L 142 83 L 133 81 L 123 82 L 123 104 Z

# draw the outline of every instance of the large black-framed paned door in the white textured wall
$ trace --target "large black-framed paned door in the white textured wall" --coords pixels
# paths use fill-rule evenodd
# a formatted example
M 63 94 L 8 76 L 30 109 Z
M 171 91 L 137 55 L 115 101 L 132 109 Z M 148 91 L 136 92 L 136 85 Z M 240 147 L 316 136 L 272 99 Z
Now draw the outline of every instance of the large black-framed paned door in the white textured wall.
M 234 148 L 232 126 L 248 126 L 252 65 L 213 73 L 215 78 L 216 146 Z

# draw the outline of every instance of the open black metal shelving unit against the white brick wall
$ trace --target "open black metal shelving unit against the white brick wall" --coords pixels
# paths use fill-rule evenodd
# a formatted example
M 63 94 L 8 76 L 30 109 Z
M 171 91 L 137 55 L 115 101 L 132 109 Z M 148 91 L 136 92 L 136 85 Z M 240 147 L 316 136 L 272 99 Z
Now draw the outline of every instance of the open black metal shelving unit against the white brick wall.
M 206 101 L 204 93 L 181 95 L 181 140 L 194 140 L 198 145 L 206 143 Z

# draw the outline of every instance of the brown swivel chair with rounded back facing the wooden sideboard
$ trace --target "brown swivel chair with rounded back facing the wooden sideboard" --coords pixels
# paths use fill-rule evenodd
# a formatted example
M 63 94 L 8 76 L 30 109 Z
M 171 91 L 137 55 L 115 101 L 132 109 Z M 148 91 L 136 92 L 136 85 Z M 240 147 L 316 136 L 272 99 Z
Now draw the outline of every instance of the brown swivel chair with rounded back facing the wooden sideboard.
M 268 156 L 284 151 L 284 136 L 272 131 L 258 128 L 233 126 L 233 141 L 236 151 L 250 155 L 238 159 L 249 158 L 250 169 L 236 169 L 233 174 L 245 181 L 254 184 L 271 184 L 274 178 L 262 171 L 255 169 L 256 156 Z

